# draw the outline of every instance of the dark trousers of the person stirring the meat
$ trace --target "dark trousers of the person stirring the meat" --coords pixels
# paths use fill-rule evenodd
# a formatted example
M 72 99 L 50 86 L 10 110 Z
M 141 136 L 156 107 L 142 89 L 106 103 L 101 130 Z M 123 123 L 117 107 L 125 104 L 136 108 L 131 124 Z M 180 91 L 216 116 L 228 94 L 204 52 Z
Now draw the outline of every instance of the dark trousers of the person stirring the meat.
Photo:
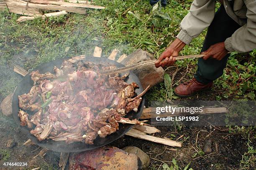
M 232 18 L 228 16 L 223 5 L 220 6 L 215 13 L 214 19 L 208 27 L 205 41 L 202 47 L 202 51 L 206 51 L 211 45 L 225 41 L 226 38 L 232 36 L 232 34 L 241 26 L 236 23 Z M 218 61 L 212 58 L 203 60 L 198 59 L 197 73 L 195 79 L 202 84 L 208 84 L 218 79 L 223 74 L 223 70 L 226 67 L 227 60 L 230 54 L 227 54 L 222 60 Z

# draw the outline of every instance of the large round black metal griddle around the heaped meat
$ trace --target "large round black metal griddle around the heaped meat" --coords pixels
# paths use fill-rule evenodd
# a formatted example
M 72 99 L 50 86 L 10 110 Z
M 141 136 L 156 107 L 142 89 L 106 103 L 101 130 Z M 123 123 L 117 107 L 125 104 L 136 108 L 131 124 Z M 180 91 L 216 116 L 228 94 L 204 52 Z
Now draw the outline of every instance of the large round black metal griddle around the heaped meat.
M 117 67 L 123 67 L 123 64 L 120 64 L 118 62 L 109 60 L 108 58 L 97 58 L 97 57 L 86 57 L 84 59 L 85 61 L 91 61 L 95 63 L 110 63 L 114 64 Z M 57 66 L 60 68 L 63 59 L 57 59 L 54 61 L 51 61 L 49 63 L 42 64 L 33 71 L 38 70 L 41 74 L 46 73 L 47 71 L 53 73 L 54 66 Z M 120 74 L 121 76 L 123 74 Z M 136 94 L 140 94 L 143 91 L 143 88 L 141 86 L 141 83 L 138 79 L 138 77 L 130 71 L 130 74 L 128 78 L 126 79 L 127 83 L 136 82 L 139 86 L 138 89 L 136 89 Z M 19 111 L 19 105 L 18 105 L 18 95 L 28 93 L 33 86 L 33 81 L 31 80 L 31 76 L 28 74 L 26 75 L 23 80 L 18 84 L 17 88 L 14 91 L 13 94 L 13 117 L 15 119 L 15 122 L 20 126 L 20 117 L 18 117 L 18 111 Z M 128 117 L 129 119 L 139 119 L 141 116 L 141 113 L 143 111 L 144 107 L 144 98 L 141 101 L 141 104 L 138 108 L 138 112 L 130 112 L 125 117 Z M 101 147 L 104 145 L 109 144 L 110 142 L 113 142 L 114 140 L 117 140 L 118 138 L 122 137 L 126 132 L 128 132 L 129 129 L 131 129 L 133 125 L 131 124 L 119 124 L 119 130 L 117 132 L 108 135 L 105 138 L 100 138 L 99 136 L 94 140 L 93 145 L 87 145 L 84 142 L 73 142 L 71 144 L 67 144 L 64 141 L 53 141 L 53 140 L 44 140 L 44 141 L 38 141 L 35 136 L 30 134 L 30 130 L 28 127 L 21 127 L 21 131 L 28 136 L 29 139 L 31 139 L 36 145 L 40 147 L 47 148 L 49 150 L 55 151 L 55 152 L 81 152 L 86 150 L 92 150 L 97 147 Z

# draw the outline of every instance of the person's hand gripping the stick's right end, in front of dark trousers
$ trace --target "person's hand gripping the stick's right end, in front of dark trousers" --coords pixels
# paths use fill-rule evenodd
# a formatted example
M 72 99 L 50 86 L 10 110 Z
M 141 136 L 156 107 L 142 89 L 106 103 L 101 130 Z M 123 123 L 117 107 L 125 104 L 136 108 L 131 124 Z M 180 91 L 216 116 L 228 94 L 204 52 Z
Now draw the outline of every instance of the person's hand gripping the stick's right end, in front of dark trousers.
M 203 56 L 204 60 L 207 60 L 210 57 L 215 58 L 216 60 L 222 60 L 227 53 L 228 50 L 225 48 L 224 42 L 213 44 L 206 51 L 202 52 L 202 54 L 206 54 Z

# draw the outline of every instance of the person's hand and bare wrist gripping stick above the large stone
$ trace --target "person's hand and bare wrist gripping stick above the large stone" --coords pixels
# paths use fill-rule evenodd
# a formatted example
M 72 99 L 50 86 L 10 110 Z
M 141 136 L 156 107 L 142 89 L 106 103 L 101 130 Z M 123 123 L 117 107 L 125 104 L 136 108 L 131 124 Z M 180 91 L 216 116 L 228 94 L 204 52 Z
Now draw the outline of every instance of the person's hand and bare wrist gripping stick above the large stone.
M 180 41 L 178 38 L 174 40 L 174 42 L 168 48 L 166 48 L 166 50 L 155 62 L 156 68 L 160 66 L 172 66 L 175 62 L 175 57 L 178 56 L 179 51 L 181 51 L 185 45 L 186 44 Z

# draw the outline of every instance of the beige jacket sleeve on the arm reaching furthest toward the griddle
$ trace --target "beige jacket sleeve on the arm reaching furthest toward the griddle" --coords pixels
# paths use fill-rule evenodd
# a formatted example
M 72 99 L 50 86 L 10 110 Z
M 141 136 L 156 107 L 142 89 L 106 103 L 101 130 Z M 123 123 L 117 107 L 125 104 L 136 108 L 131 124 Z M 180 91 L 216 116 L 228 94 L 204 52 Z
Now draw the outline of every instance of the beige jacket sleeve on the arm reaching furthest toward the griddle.
M 194 0 L 189 13 L 183 18 L 180 24 L 181 31 L 177 35 L 177 38 L 189 44 L 193 38 L 199 36 L 212 23 L 214 14 L 214 0 Z

